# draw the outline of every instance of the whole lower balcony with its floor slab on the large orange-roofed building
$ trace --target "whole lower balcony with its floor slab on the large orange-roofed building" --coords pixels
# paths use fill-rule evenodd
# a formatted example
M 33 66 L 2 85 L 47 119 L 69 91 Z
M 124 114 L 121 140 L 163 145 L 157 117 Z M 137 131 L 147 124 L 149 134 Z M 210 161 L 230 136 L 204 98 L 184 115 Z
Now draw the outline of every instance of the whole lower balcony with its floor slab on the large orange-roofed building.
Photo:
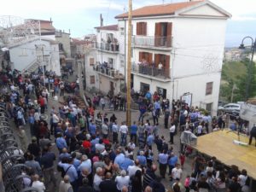
M 131 67 L 132 73 L 148 79 L 156 79 L 163 82 L 171 81 L 170 69 L 159 69 L 153 66 L 143 66 L 142 64 L 133 64 Z

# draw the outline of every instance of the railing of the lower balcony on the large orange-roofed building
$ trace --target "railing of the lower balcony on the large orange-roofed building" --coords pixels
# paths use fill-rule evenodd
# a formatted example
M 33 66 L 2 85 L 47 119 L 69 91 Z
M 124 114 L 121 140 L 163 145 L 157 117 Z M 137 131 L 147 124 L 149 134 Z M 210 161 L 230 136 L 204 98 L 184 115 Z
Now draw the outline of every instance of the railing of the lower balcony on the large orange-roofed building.
M 160 79 L 170 79 L 170 69 L 153 67 L 153 66 L 143 66 L 141 64 L 133 64 L 131 67 L 132 72 L 139 73 L 143 75 L 153 76 Z

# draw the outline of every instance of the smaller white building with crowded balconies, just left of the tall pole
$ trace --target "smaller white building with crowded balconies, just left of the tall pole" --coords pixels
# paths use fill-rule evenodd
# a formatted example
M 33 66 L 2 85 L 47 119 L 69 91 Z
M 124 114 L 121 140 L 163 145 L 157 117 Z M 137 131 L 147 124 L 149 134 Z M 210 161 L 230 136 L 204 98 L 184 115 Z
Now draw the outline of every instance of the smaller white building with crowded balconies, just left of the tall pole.
M 124 43 L 118 25 L 96 27 L 96 41 L 84 55 L 87 88 L 116 95 L 125 87 Z

